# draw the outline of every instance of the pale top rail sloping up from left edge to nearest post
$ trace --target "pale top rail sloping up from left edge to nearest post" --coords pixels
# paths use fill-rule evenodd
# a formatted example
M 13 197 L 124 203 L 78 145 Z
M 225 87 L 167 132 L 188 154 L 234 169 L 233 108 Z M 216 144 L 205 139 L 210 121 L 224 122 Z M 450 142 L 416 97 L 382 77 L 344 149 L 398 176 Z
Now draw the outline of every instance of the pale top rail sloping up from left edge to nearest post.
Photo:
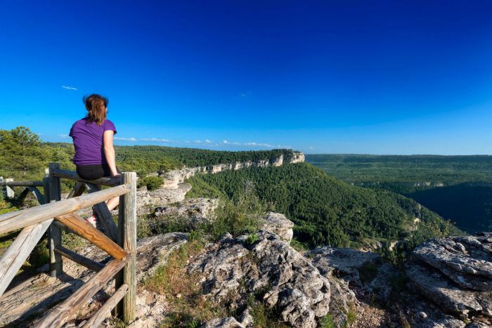
M 44 204 L 41 206 L 22 209 L 6 214 L 0 214 L 0 234 L 17 230 L 20 228 L 46 221 L 48 218 L 61 216 L 64 214 L 78 211 L 87 206 L 92 206 L 100 202 L 123 195 L 131 188 L 129 185 L 118 185 L 117 187 L 109 188 L 94 192 L 89 195 L 82 195 L 65 199 L 61 202 Z

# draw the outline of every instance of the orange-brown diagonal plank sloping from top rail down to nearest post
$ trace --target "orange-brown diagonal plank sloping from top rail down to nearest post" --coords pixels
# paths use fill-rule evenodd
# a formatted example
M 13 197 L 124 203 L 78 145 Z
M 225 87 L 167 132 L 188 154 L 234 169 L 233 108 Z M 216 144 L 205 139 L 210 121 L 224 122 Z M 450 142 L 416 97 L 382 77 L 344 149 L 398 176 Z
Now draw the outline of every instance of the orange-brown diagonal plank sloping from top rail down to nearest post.
M 89 242 L 95 244 L 100 249 L 103 249 L 106 253 L 114 258 L 126 258 L 129 254 L 128 251 L 119 247 L 118 244 L 110 240 L 110 238 L 103 234 L 103 232 L 94 228 L 91 223 L 87 223 L 75 213 L 65 214 L 63 216 L 57 216 L 55 218 L 60 221 L 67 228 L 75 232 L 80 237 L 89 240 Z

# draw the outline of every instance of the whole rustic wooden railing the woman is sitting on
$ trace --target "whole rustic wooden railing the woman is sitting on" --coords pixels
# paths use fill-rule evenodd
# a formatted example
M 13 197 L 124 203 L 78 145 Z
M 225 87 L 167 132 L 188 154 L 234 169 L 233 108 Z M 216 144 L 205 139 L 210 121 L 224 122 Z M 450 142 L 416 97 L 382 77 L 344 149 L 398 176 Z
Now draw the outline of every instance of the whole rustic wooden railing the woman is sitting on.
M 61 200 L 61 178 L 77 181 L 67 199 L 63 200 Z M 39 181 L 35 183 L 39 186 Z M 112 188 L 101 190 L 99 185 L 110 185 Z M 124 172 L 121 177 L 84 181 L 77 176 L 75 171 L 60 169 L 58 163 L 52 163 L 49 165 L 48 174 L 42 181 L 42 186 L 44 204 L 0 215 L 0 234 L 22 229 L 11 247 L 0 258 L 0 297 L 22 263 L 47 231 L 51 277 L 59 277 L 63 273 L 63 257 L 96 271 L 96 274 L 63 303 L 50 310 L 36 323 L 35 327 L 61 327 L 113 277 L 115 277 L 115 293 L 91 319 L 87 320 L 84 327 L 97 327 L 113 309 L 115 315 L 122 315 L 124 322 L 134 320 L 136 173 Z M 82 195 L 85 190 L 89 192 L 88 195 Z M 105 201 L 118 196 L 119 213 L 118 225 L 116 225 Z M 75 213 L 88 206 L 93 206 L 93 210 L 98 214 L 105 234 L 93 228 L 90 223 Z M 62 229 L 73 232 L 95 244 L 112 256 L 112 260 L 107 264 L 99 263 L 63 247 Z

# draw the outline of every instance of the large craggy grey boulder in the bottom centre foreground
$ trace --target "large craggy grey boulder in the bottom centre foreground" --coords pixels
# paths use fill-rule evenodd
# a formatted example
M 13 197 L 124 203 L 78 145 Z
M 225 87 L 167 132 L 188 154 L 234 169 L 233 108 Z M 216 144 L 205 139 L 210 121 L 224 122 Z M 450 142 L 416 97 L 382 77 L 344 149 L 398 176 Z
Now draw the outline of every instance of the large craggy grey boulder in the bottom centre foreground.
M 226 235 L 188 265 L 190 273 L 205 275 L 205 294 L 216 301 L 235 294 L 240 303 L 260 293 L 266 306 L 278 309 L 280 320 L 316 327 L 316 318 L 328 313 L 328 279 L 272 232 L 261 230 L 252 245 L 246 240 Z

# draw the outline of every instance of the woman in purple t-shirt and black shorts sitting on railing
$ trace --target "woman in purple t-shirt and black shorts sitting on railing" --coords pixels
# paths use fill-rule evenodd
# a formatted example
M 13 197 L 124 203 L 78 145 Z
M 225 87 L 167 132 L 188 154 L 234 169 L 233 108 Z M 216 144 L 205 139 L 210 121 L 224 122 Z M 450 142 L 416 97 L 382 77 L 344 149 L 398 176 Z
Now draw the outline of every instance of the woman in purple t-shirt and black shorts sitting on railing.
M 96 93 L 82 98 L 87 116 L 72 125 L 72 137 L 75 156 L 72 159 L 77 166 L 77 174 L 84 180 L 96 180 L 103 176 L 119 176 L 116 167 L 115 148 L 112 137 L 116 134 L 115 124 L 106 119 L 108 99 Z M 111 211 L 119 203 L 119 197 L 106 202 Z M 96 227 L 96 214 L 85 219 Z

